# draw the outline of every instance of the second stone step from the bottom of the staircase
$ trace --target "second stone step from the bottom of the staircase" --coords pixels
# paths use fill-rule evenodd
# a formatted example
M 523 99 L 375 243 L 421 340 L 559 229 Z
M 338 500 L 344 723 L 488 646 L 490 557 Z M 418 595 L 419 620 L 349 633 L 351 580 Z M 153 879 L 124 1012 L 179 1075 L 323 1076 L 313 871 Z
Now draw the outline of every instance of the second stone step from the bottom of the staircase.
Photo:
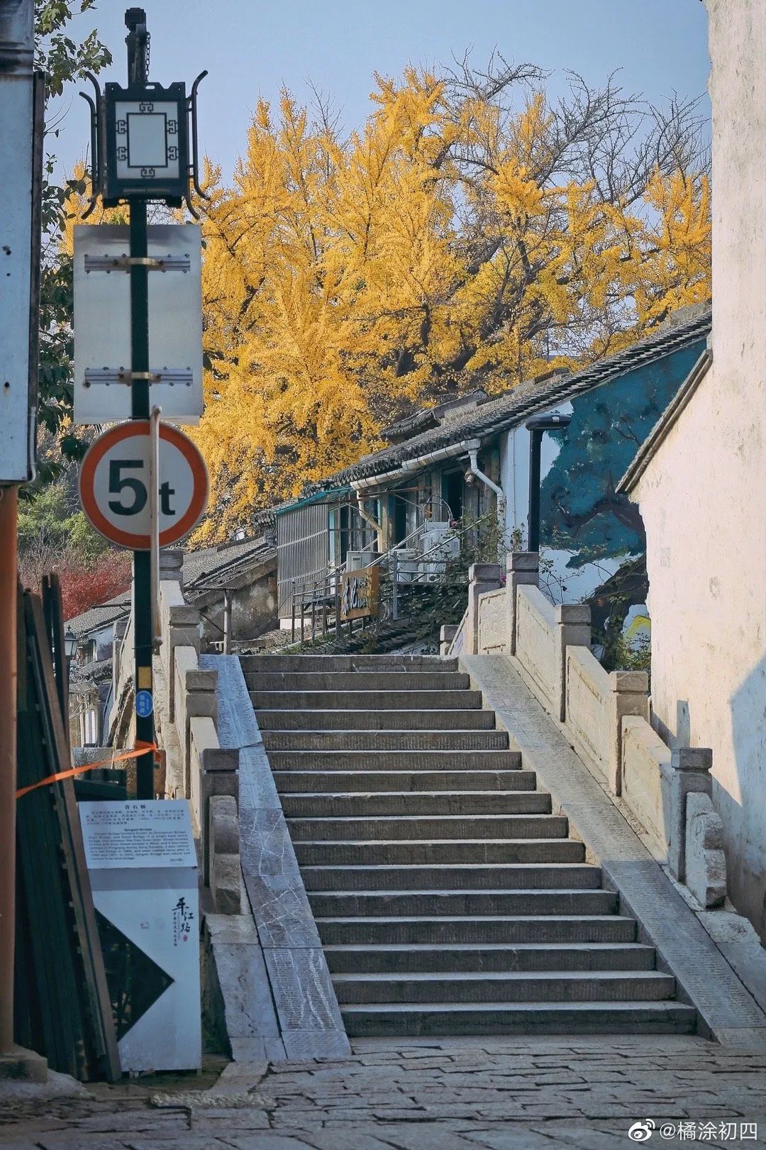
M 661 1002 L 675 979 L 661 971 L 443 971 L 336 974 L 338 1005 L 353 1003 L 614 1003 Z

